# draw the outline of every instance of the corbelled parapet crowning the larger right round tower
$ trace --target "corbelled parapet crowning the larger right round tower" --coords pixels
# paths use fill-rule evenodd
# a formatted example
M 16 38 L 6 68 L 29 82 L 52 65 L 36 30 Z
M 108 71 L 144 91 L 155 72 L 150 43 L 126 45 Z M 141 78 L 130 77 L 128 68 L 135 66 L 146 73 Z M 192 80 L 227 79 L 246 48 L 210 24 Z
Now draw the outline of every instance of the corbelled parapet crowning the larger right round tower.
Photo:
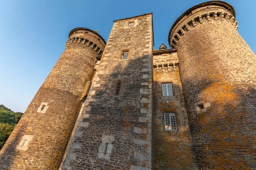
M 168 42 L 171 48 L 177 48 L 180 37 L 190 29 L 215 20 L 227 21 L 235 29 L 238 28 L 236 14 L 233 7 L 223 1 L 209 1 L 198 4 L 184 12 L 173 24 Z

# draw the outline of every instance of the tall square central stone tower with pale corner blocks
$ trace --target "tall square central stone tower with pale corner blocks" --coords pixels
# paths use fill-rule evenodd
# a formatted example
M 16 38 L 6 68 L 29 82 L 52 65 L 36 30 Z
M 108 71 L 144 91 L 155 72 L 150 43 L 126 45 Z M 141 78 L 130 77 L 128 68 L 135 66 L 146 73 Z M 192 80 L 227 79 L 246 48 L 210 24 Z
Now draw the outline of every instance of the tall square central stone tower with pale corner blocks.
M 63 170 L 151 169 L 152 47 L 152 14 L 114 21 Z

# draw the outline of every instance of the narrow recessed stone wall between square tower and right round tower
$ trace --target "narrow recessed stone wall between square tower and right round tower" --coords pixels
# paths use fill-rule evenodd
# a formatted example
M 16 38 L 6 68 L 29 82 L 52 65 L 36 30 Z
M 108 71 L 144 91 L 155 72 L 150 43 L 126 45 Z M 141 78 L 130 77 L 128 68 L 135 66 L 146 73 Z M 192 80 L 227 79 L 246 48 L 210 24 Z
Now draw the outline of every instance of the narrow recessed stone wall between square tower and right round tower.
M 154 51 L 152 115 L 153 169 L 195 169 L 177 50 Z M 172 83 L 173 96 L 163 96 L 162 83 Z M 175 112 L 177 131 L 166 131 L 164 112 Z

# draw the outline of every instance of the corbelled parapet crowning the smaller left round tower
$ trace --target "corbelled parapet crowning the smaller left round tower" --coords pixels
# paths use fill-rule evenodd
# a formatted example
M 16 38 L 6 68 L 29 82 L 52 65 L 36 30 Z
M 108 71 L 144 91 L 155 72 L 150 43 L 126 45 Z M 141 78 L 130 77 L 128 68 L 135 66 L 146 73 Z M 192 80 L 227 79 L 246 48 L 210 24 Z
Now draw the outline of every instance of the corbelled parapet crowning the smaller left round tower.
M 88 28 L 75 28 L 72 31 L 70 31 L 69 39 L 67 40 L 67 43 L 66 43 L 66 48 L 70 44 L 87 45 L 88 47 L 96 51 L 96 53 L 99 54 L 99 57 L 101 57 L 104 51 L 106 42 L 98 34 L 97 31 L 93 31 Z

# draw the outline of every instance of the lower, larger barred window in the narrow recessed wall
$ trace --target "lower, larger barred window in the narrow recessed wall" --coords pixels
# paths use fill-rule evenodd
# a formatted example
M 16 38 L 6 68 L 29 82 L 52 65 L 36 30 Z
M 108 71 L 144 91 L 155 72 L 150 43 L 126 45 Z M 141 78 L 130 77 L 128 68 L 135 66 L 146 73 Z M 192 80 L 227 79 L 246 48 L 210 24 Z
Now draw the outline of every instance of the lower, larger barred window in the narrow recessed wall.
M 166 131 L 177 131 L 175 113 L 164 113 L 164 126 Z

